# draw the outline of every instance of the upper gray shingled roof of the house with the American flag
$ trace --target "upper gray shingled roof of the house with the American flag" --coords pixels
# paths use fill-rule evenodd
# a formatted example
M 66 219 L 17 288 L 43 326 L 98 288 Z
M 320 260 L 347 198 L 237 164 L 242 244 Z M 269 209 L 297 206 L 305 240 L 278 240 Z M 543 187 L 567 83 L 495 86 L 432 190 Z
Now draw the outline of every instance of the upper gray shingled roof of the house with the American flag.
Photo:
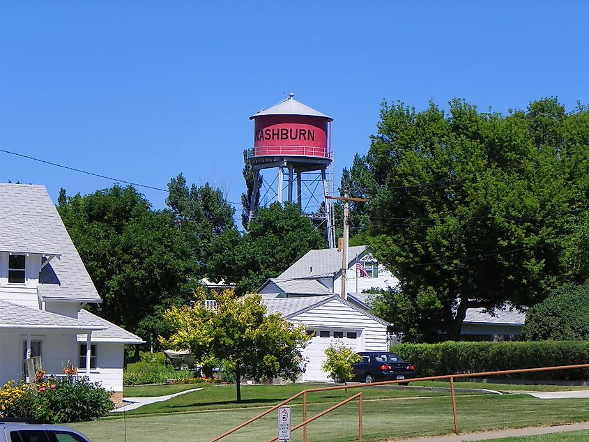
M 366 250 L 367 245 L 348 247 L 348 266 Z M 337 249 L 309 250 L 295 264 L 284 270 L 277 278 L 288 280 L 301 277 L 333 276 L 342 270 L 342 252 Z

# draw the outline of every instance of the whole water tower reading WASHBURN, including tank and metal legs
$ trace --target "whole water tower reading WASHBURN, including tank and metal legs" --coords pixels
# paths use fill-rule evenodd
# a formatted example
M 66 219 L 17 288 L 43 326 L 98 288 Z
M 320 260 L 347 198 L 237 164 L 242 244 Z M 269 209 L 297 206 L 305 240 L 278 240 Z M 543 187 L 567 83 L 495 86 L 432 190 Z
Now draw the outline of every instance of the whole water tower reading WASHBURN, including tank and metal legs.
M 332 200 L 326 199 L 333 192 L 333 119 L 295 100 L 293 93 L 277 105 L 250 116 L 251 119 L 254 186 L 250 220 L 257 206 L 274 201 L 296 202 L 303 215 L 326 229 L 329 247 L 335 247 Z

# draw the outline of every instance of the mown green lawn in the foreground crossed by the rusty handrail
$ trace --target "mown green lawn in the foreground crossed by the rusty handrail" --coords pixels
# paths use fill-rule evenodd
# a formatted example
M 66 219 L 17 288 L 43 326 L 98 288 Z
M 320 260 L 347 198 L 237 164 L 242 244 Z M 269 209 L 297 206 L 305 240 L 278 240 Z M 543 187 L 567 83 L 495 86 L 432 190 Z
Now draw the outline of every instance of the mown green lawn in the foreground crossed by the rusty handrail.
M 486 385 L 488 386 L 488 384 Z M 269 406 L 289 397 L 300 386 L 245 386 L 241 406 Z M 404 388 L 363 388 L 365 441 L 383 441 L 453 432 L 450 397 Z M 297 390 L 298 391 L 298 390 Z M 349 395 L 355 390 L 349 391 Z M 408 395 L 413 396 L 408 397 Z M 256 416 L 261 409 L 236 408 L 234 386 L 208 387 L 167 402 L 141 407 L 148 416 L 126 413 L 72 425 L 95 442 L 210 441 L 213 437 Z M 343 399 L 344 392 L 327 392 L 309 405 L 309 416 Z M 403 397 L 404 396 L 404 397 Z M 388 397 L 388 399 L 385 399 Z M 182 399 L 182 400 L 180 400 Z M 309 397 L 309 401 L 314 401 Z M 149 409 L 147 407 L 150 407 Z M 535 425 L 558 425 L 589 420 L 589 399 L 542 400 L 529 395 L 461 395 L 457 398 L 461 432 Z M 144 412 L 145 412 L 144 411 Z M 185 412 L 183 412 L 185 411 Z M 293 425 L 301 421 L 302 406 L 293 405 Z M 169 413 L 171 412 L 171 413 Z M 132 414 L 133 413 L 133 414 Z M 275 436 L 277 411 L 225 441 L 267 441 Z M 348 404 L 309 425 L 310 441 L 344 442 L 358 439 L 358 403 Z M 300 431 L 292 441 L 300 442 Z M 564 441 L 576 439 L 554 439 Z M 587 440 L 587 439 L 579 439 Z M 526 439 L 526 442 L 536 442 Z M 539 439 L 547 442 L 552 439 Z

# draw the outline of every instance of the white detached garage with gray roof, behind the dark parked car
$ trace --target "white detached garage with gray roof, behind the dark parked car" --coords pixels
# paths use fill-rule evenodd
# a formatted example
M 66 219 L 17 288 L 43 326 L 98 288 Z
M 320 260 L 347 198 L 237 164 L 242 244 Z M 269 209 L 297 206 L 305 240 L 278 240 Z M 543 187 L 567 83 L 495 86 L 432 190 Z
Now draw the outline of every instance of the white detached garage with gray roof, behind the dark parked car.
M 276 297 L 264 294 L 268 313 L 280 313 L 295 325 L 307 327 L 314 337 L 305 348 L 307 359 L 301 381 L 331 381 L 321 369 L 325 350 L 339 340 L 355 351 L 386 351 L 388 322 L 343 300 L 338 295 Z

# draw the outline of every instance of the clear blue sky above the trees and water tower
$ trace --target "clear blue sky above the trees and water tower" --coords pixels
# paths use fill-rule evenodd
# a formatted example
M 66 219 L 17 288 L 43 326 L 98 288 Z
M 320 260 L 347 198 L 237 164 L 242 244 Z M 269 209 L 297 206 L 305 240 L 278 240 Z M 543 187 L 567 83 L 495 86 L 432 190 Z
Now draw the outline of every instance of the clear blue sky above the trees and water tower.
M 588 104 L 588 17 L 587 1 L 0 0 L 0 149 L 158 188 L 183 172 L 240 201 L 248 117 L 294 92 L 334 118 L 339 184 L 382 100 Z M 113 184 L 0 152 L 8 180 L 53 199 Z

